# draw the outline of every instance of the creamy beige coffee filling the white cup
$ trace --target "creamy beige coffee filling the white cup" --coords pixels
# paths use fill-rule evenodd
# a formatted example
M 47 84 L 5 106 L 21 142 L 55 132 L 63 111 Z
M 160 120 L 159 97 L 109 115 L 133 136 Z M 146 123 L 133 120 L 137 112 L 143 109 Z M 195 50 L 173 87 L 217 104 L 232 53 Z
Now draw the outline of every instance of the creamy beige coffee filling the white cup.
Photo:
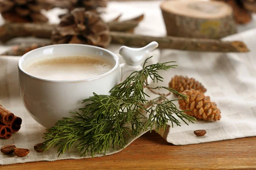
M 56 57 L 29 65 L 26 72 L 51 80 L 80 80 L 97 77 L 112 69 L 111 64 L 100 57 Z

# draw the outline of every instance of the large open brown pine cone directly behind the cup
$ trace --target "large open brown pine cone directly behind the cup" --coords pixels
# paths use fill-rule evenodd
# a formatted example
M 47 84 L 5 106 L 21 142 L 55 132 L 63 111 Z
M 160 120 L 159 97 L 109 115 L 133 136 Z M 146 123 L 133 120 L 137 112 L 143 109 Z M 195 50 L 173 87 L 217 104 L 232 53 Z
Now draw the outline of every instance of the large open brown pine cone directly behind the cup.
M 61 18 L 52 31 L 54 44 L 76 43 L 107 47 L 111 42 L 109 27 L 101 18 L 85 8 L 76 8 Z

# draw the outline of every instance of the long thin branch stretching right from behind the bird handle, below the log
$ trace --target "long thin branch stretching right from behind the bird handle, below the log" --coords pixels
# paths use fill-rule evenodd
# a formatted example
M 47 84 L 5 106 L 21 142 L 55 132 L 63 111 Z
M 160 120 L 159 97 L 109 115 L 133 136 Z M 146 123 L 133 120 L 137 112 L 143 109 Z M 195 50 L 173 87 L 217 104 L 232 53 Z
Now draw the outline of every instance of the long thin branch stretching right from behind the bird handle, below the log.
M 187 51 L 212 52 L 248 52 L 247 46 L 240 41 L 220 41 L 209 39 L 195 39 L 182 37 L 149 37 L 129 33 L 111 32 L 112 42 L 128 46 L 142 47 L 152 41 L 159 44 L 159 48 L 169 48 Z

